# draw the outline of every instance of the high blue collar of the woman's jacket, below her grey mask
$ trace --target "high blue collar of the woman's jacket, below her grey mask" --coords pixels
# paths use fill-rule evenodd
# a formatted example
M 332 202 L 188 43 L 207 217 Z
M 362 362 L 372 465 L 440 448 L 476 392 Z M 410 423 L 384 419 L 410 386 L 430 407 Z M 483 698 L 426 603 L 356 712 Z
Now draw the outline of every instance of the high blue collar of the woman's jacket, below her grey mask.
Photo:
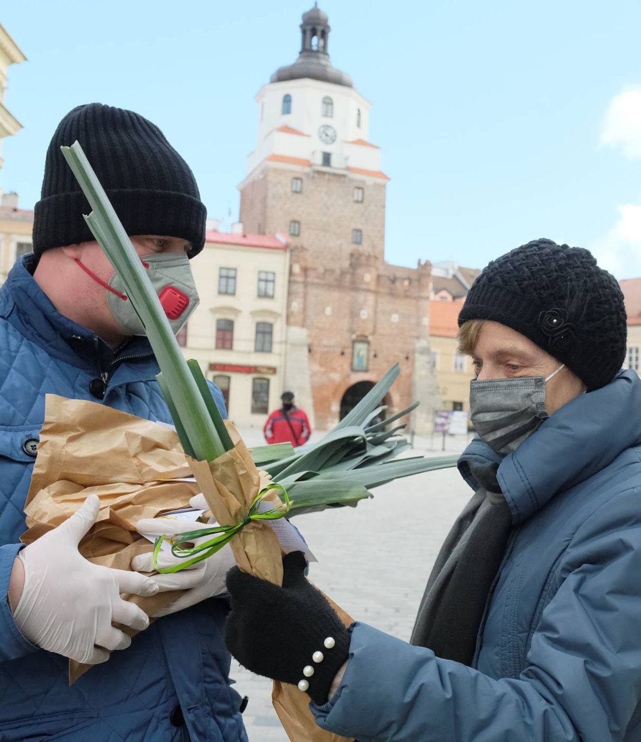
M 620 371 L 605 387 L 582 394 L 546 418 L 536 433 L 502 459 L 479 438 L 459 459 L 459 471 L 477 488 L 470 464 L 499 463 L 497 479 L 520 523 L 557 492 L 585 482 L 622 451 L 641 444 L 641 379 Z

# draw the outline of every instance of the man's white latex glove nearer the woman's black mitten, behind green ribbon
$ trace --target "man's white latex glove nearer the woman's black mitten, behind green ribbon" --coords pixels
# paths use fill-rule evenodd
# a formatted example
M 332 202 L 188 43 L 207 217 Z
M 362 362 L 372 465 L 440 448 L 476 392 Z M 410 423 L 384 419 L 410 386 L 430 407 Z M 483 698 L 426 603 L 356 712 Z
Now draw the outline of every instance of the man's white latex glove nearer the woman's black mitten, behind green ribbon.
M 197 510 L 203 510 L 199 505 L 194 505 L 196 497 L 192 497 L 190 505 Z M 207 504 L 205 503 L 205 508 Z M 196 523 L 172 518 L 145 518 L 139 520 L 136 524 L 139 531 L 144 531 L 145 535 L 154 536 L 175 536 L 176 533 L 185 531 L 196 531 L 200 528 L 210 528 L 206 523 Z M 200 544 L 213 536 L 204 536 L 202 539 L 194 539 L 193 543 Z M 174 557 L 170 551 L 161 551 L 158 555 L 158 566 L 161 569 L 173 567 L 175 564 L 184 563 L 185 559 Z M 176 597 L 166 608 L 153 614 L 153 618 L 167 616 L 177 611 L 189 608 L 190 605 L 196 605 L 201 600 L 214 597 L 227 591 L 225 587 L 225 577 L 227 572 L 235 565 L 236 562 L 231 552 L 229 544 L 223 546 L 216 554 L 212 554 L 207 559 L 191 565 L 179 572 L 170 574 L 154 574 L 153 580 L 158 583 L 160 591 L 167 590 L 185 590 L 182 595 Z M 140 572 L 153 572 L 153 554 L 139 554 L 131 560 L 131 568 Z

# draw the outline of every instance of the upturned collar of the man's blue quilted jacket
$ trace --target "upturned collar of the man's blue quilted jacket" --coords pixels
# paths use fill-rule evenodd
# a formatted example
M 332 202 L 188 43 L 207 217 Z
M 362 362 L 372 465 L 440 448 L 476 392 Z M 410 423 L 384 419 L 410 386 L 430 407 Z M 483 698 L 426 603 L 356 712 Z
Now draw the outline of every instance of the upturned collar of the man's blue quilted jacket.
M 93 372 L 107 370 L 122 349 L 114 350 L 92 330 L 61 315 L 34 280 L 35 268 L 33 255 L 13 266 L 0 289 L 0 317 L 60 361 Z M 127 343 L 130 355 L 153 355 L 147 338 L 132 338 Z

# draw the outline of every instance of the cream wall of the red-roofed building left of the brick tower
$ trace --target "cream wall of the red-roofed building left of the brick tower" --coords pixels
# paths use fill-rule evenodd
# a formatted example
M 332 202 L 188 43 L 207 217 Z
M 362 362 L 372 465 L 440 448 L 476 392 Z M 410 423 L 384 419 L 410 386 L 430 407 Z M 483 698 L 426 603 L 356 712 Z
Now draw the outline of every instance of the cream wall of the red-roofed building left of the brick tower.
M 240 244 L 239 244 L 240 243 Z M 269 246 L 260 246 L 260 245 Z M 236 269 L 235 294 L 219 293 L 220 269 Z M 259 272 L 274 274 L 273 298 L 258 295 Z M 193 263 L 200 304 L 187 324 L 187 358 L 199 361 L 207 378 L 227 378 L 229 418 L 241 427 L 262 427 L 280 406 L 284 391 L 289 250 L 269 235 L 208 232 Z M 233 321 L 233 347 L 216 348 L 216 321 Z M 271 352 L 255 349 L 256 323 L 273 326 Z M 254 379 L 268 379 L 268 412 L 252 411 Z M 220 385 L 220 384 L 219 384 Z

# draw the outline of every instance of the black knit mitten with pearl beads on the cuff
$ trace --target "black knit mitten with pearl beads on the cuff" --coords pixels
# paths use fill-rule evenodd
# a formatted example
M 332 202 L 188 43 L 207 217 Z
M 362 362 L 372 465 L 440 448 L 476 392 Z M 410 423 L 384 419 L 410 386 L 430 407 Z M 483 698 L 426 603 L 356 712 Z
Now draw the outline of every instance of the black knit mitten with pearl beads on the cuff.
M 350 635 L 305 577 L 302 552 L 288 554 L 282 564 L 282 587 L 238 567 L 227 573 L 231 612 L 225 644 L 251 672 L 297 685 L 322 704 L 348 659 Z

